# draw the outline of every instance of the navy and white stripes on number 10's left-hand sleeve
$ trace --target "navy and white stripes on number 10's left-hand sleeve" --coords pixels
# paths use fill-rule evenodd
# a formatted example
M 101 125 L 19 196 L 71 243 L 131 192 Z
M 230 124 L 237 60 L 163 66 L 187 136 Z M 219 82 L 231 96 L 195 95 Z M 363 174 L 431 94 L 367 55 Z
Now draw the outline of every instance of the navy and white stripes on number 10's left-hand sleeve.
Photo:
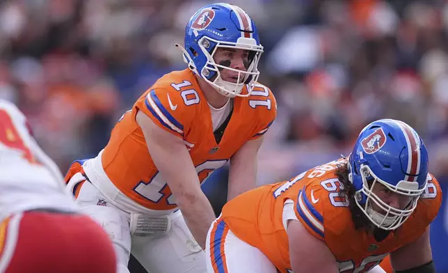
M 154 118 L 157 118 L 161 125 L 168 130 L 184 135 L 184 126 L 179 123 L 173 115 L 163 106 L 154 90 L 147 94 L 145 99 L 146 108 L 150 111 Z

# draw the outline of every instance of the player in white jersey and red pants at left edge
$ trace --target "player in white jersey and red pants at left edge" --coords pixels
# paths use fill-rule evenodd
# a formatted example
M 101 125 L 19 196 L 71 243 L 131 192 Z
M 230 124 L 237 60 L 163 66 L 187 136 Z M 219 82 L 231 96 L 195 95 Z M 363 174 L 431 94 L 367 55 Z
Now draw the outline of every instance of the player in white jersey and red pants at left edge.
M 25 116 L 0 100 L 0 273 L 115 273 L 102 227 L 77 213 Z

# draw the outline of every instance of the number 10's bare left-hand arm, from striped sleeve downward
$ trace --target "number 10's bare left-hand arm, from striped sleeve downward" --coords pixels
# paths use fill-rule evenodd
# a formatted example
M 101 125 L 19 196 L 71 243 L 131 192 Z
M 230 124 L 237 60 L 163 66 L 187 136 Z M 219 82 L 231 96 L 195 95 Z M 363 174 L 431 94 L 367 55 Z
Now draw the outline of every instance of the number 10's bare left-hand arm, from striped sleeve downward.
M 215 214 L 200 189 L 198 173 L 182 139 L 165 132 L 145 114 L 138 112 L 138 125 L 142 128 L 154 164 L 173 192 L 187 226 L 203 248 Z

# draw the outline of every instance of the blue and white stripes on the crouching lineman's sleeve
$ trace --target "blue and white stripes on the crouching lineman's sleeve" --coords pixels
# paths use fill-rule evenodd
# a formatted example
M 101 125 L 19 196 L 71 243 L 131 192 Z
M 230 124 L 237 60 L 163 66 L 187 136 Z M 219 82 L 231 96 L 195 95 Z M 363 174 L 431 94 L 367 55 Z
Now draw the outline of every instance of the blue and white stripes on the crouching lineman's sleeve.
M 305 194 L 305 188 L 298 193 L 297 198 L 297 212 L 302 219 L 302 223 L 305 224 L 305 228 L 311 229 L 319 235 L 319 239 L 323 240 L 323 217 L 313 206 L 310 200 L 308 200 Z

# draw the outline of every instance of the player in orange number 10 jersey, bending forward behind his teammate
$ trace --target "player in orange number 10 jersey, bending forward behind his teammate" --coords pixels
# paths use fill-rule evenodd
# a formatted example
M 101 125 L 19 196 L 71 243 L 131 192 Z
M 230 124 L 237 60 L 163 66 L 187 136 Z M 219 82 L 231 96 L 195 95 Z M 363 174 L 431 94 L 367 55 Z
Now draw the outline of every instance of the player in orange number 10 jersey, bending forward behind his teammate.
M 263 47 L 244 10 L 200 8 L 179 48 L 188 68 L 143 93 L 104 150 L 65 178 L 109 232 L 120 272 L 129 252 L 152 273 L 205 272 L 216 215 L 200 183 L 230 161 L 228 198 L 255 187 L 257 152 L 276 116 L 273 94 L 257 81 Z

